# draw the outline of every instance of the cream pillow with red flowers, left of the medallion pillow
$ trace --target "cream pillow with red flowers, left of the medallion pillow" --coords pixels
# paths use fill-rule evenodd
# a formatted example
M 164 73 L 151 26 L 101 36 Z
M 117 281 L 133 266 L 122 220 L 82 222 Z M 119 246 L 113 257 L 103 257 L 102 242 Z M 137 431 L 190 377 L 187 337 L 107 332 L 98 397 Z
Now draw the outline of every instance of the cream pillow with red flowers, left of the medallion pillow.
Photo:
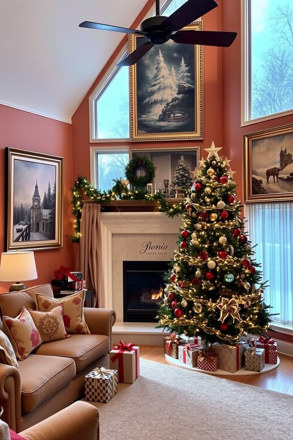
M 3 316 L 3 331 L 9 337 L 17 359 L 23 360 L 42 344 L 40 333 L 26 307 L 15 318 Z

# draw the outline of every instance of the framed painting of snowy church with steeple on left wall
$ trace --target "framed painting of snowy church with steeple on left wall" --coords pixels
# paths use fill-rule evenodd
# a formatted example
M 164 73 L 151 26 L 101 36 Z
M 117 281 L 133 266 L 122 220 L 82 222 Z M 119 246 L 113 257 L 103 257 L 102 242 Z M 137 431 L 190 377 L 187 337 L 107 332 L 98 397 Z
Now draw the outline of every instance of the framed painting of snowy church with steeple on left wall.
M 63 158 L 6 148 L 6 249 L 62 247 Z

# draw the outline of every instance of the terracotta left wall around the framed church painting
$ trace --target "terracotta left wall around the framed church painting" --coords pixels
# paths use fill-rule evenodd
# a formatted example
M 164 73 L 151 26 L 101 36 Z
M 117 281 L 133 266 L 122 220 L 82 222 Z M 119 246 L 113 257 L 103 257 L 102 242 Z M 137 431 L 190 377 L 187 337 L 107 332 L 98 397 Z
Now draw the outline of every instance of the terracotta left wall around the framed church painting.
M 47 117 L 0 105 L 0 251 L 4 252 L 4 182 L 5 147 L 17 148 L 64 158 L 64 222 L 63 249 L 35 251 L 38 279 L 27 286 L 50 282 L 61 264 L 74 268 L 73 245 L 66 235 L 73 231 L 72 205 L 72 132 L 71 125 Z M 33 195 L 34 188 L 32 188 Z M 16 280 L 15 280 L 16 281 Z M 0 291 L 11 283 L 0 282 Z

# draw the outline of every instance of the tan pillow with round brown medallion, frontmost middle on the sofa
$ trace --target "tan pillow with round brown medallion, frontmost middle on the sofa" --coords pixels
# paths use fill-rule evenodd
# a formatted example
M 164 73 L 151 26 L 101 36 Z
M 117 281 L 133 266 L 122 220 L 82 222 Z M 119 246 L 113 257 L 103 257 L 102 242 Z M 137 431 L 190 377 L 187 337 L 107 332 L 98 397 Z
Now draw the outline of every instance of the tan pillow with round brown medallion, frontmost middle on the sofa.
M 71 337 L 66 333 L 63 321 L 63 304 L 53 307 L 50 312 L 39 312 L 38 310 L 29 310 L 40 333 L 43 342 L 58 341 Z

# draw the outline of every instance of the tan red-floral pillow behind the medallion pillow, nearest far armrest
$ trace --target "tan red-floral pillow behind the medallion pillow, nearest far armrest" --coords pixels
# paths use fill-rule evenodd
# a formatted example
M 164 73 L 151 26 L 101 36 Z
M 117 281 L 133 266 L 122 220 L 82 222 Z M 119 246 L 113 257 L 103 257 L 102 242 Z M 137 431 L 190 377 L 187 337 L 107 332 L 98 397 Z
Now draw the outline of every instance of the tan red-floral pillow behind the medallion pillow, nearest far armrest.
M 72 293 L 64 298 L 57 299 L 35 293 L 36 308 L 42 312 L 51 310 L 58 304 L 63 304 L 63 320 L 67 333 L 90 334 L 90 330 L 83 316 L 85 290 Z

